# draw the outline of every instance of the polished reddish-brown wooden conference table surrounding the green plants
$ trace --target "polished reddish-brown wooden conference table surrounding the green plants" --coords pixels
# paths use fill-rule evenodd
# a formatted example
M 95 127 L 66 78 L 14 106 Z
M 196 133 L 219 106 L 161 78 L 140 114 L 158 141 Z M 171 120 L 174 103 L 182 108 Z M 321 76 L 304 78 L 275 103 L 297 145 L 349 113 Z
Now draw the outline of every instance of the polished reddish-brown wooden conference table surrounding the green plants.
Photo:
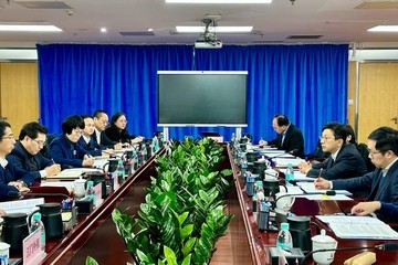
M 223 145 L 223 156 L 227 159 L 219 169 L 232 169 L 231 180 L 234 187 L 224 199 L 224 211 L 233 214 L 227 233 L 216 243 L 210 265 L 265 265 L 269 264 L 269 247 L 275 246 L 277 232 L 260 232 L 256 227 L 251 209 L 252 200 L 244 191 L 240 168 L 227 145 Z M 156 156 L 163 156 L 161 149 Z M 65 233 L 63 239 L 46 242 L 46 256 L 42 264 L 85 264 L 87 256 L 94 257 L 100 264 L 133 263 L 132 255 L 116 226 L 112 221 L 112 211 L 119 209 L 128 214 L 137 215 L 140 203 L 145 201 L 145 188 L 150 184 L 150 177 L 156 177 L 156 156 L 153 156 L 137 171 L 129 176 L 118 190 L 107 197 L 91 214 L 81 215 L 77 225 Z M 296 214 L 314 215 L 342 212 L 350 209 L 354 201 L 302 201 L 296 200 L 294 208 L 305 209 L 306 212 Z M 305 208 L 301 206 L 304 204 Z M 313 218 L 321 227 L 333 236 L 333 232 L 322 222 Z M 339 240 L 338 247 L 375 246 L 385 241 Z M 397 264 L 397 252 L 375 251 L 377 264 Z M 344 261 L 360 251 L 337 252 L 333 264 L 343 264 Z M 313 264 L 312 259 L 306 264 Z

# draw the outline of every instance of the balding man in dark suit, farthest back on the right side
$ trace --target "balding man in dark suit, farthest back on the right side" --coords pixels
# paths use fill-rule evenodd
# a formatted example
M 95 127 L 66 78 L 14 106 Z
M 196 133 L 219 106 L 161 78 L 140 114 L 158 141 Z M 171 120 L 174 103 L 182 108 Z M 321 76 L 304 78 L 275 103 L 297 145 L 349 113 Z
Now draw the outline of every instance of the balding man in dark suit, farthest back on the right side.
M 286 152 L 297 149 L 294 156 L 304 157 L 304 137 L 301 130 L 289 121 L 283 114 L 277 114 L 272 119 L 272 127 L 279 136 L 269 141 L 261 140 L 260 146 L 275 146 Z

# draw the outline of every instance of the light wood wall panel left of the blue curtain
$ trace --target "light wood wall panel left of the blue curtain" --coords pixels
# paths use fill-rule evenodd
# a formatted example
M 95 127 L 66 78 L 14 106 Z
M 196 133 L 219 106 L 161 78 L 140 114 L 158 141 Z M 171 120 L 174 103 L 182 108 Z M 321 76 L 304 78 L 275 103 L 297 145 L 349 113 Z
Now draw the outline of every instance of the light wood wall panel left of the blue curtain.
M 39 119 L 38 64 L 1 63 L 0 88 L 0 116 L 18 138 L 23 124 Z

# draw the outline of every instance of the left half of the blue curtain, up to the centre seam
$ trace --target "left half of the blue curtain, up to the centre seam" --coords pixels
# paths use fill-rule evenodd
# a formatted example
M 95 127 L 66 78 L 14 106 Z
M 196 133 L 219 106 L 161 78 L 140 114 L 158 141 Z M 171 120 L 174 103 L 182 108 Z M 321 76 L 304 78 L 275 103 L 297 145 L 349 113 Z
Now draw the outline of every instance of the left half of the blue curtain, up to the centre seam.
M 38 44 L 41 123 L 61 131 L 63 118 L 104 109 L 127 116 L 130 134 L 151 137 L 161 70 L 190 70 L 191 45 Z

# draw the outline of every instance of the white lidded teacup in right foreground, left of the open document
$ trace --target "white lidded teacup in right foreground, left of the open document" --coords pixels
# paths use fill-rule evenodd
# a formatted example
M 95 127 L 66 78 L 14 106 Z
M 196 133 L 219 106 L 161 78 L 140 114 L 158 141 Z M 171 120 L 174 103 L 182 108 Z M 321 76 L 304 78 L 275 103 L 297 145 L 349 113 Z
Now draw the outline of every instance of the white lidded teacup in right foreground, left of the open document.
M 332 236 L 326 235 L 325 230 L 321 230 L 321 234 L 311 237 L 311 240 L 313 242 L 313 251 L 331 250 L 337 247 L 337 241 L 334 240 Z M 335 252 L 336 251 L 313 253 L 313 259 L 318 265 L 328 265 L 333 262 Z

